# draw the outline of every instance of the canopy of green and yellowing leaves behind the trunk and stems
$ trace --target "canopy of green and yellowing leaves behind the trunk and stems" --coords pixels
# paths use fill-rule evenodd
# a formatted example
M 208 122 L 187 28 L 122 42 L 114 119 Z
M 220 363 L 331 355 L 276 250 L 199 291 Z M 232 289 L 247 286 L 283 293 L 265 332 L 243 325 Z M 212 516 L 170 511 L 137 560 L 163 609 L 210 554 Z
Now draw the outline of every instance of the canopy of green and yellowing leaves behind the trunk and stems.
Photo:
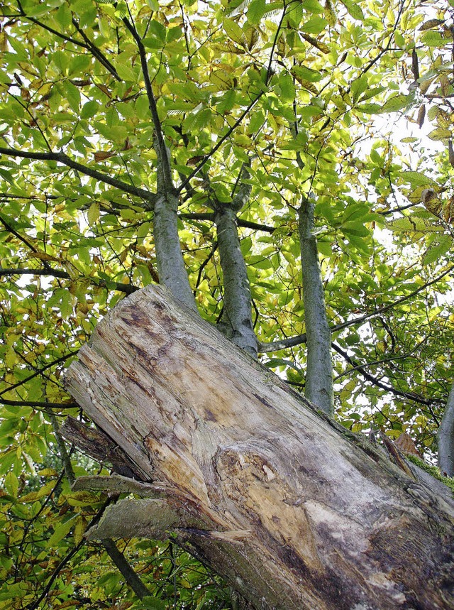
M 312 193 L 336 417 L 436 452 L 454 326 L 453 3 L 441 5 L 4 1 L 0 608 L 37 607 L 52 574 L 51 608 L 133 600 L 106 553 L 82 547 L 105 498 L 70 491 L 58 433 L 80 415 L 65 368 L 118 300 L 158 281 L 155 124 L 127 23 L 201 315 L 216 323 L 223 308 L 210 199 L 228 205 L 250 159 L 238 226 L 262 361 L 304 388 L 297 208 Z M 396 134 L 404 116 L 416 136 Z M 438 153 L 420 135 L 429 123 Z M 76 475 L 96 471 L 68 459 Z M 233 603 L 172 543 L 123 547 L 155 596 L 129 607 Z

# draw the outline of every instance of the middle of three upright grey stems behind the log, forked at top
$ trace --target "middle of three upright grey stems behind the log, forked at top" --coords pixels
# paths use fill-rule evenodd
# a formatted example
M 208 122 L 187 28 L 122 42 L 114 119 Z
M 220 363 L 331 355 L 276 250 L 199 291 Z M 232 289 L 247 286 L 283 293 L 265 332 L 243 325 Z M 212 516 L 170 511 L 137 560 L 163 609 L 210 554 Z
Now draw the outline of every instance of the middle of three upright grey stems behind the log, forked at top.
M 241 174 L 248 178 L 248 168 Z M 241 178 L 241 174 L 240 177 Z M 248 270 L 240 249 L 237 214 L 250 197 L 251 187 L 240 185 L 232 202 L 212 203 L 223 273 L 223 317 L 219 329 L 238 347 L 257 358 L 257 337 L 252 317 L 252 298 Z

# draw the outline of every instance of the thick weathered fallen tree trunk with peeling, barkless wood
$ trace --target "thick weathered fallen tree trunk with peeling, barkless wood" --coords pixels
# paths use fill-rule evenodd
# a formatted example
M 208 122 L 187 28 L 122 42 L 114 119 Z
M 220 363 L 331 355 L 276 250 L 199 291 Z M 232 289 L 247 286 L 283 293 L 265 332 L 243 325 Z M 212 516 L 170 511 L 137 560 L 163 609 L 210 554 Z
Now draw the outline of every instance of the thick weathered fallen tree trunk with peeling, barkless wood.
M 131 481 L 145 497 L 112 506 L 92 537 L 172 533 L 256 609 L 454 607 L 449 495 L 316 411 L 167 290 L 119 303 L 65 383 L 154 481 Z

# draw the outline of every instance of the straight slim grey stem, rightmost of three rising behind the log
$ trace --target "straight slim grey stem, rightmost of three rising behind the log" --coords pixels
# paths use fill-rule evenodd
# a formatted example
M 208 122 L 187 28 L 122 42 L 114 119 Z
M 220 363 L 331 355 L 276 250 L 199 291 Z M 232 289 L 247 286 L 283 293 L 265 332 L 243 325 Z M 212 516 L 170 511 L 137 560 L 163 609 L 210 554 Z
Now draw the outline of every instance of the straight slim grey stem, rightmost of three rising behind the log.
M 314 207 L 311 197 L 303 196 L 299 208 L 299 242 L 303 278 L 304 320 L 307 338 L 306 386 L 304 393 L 328 415 L 334 412 L 331 330 L 326 318 L 325 295 L 314 235 Z

